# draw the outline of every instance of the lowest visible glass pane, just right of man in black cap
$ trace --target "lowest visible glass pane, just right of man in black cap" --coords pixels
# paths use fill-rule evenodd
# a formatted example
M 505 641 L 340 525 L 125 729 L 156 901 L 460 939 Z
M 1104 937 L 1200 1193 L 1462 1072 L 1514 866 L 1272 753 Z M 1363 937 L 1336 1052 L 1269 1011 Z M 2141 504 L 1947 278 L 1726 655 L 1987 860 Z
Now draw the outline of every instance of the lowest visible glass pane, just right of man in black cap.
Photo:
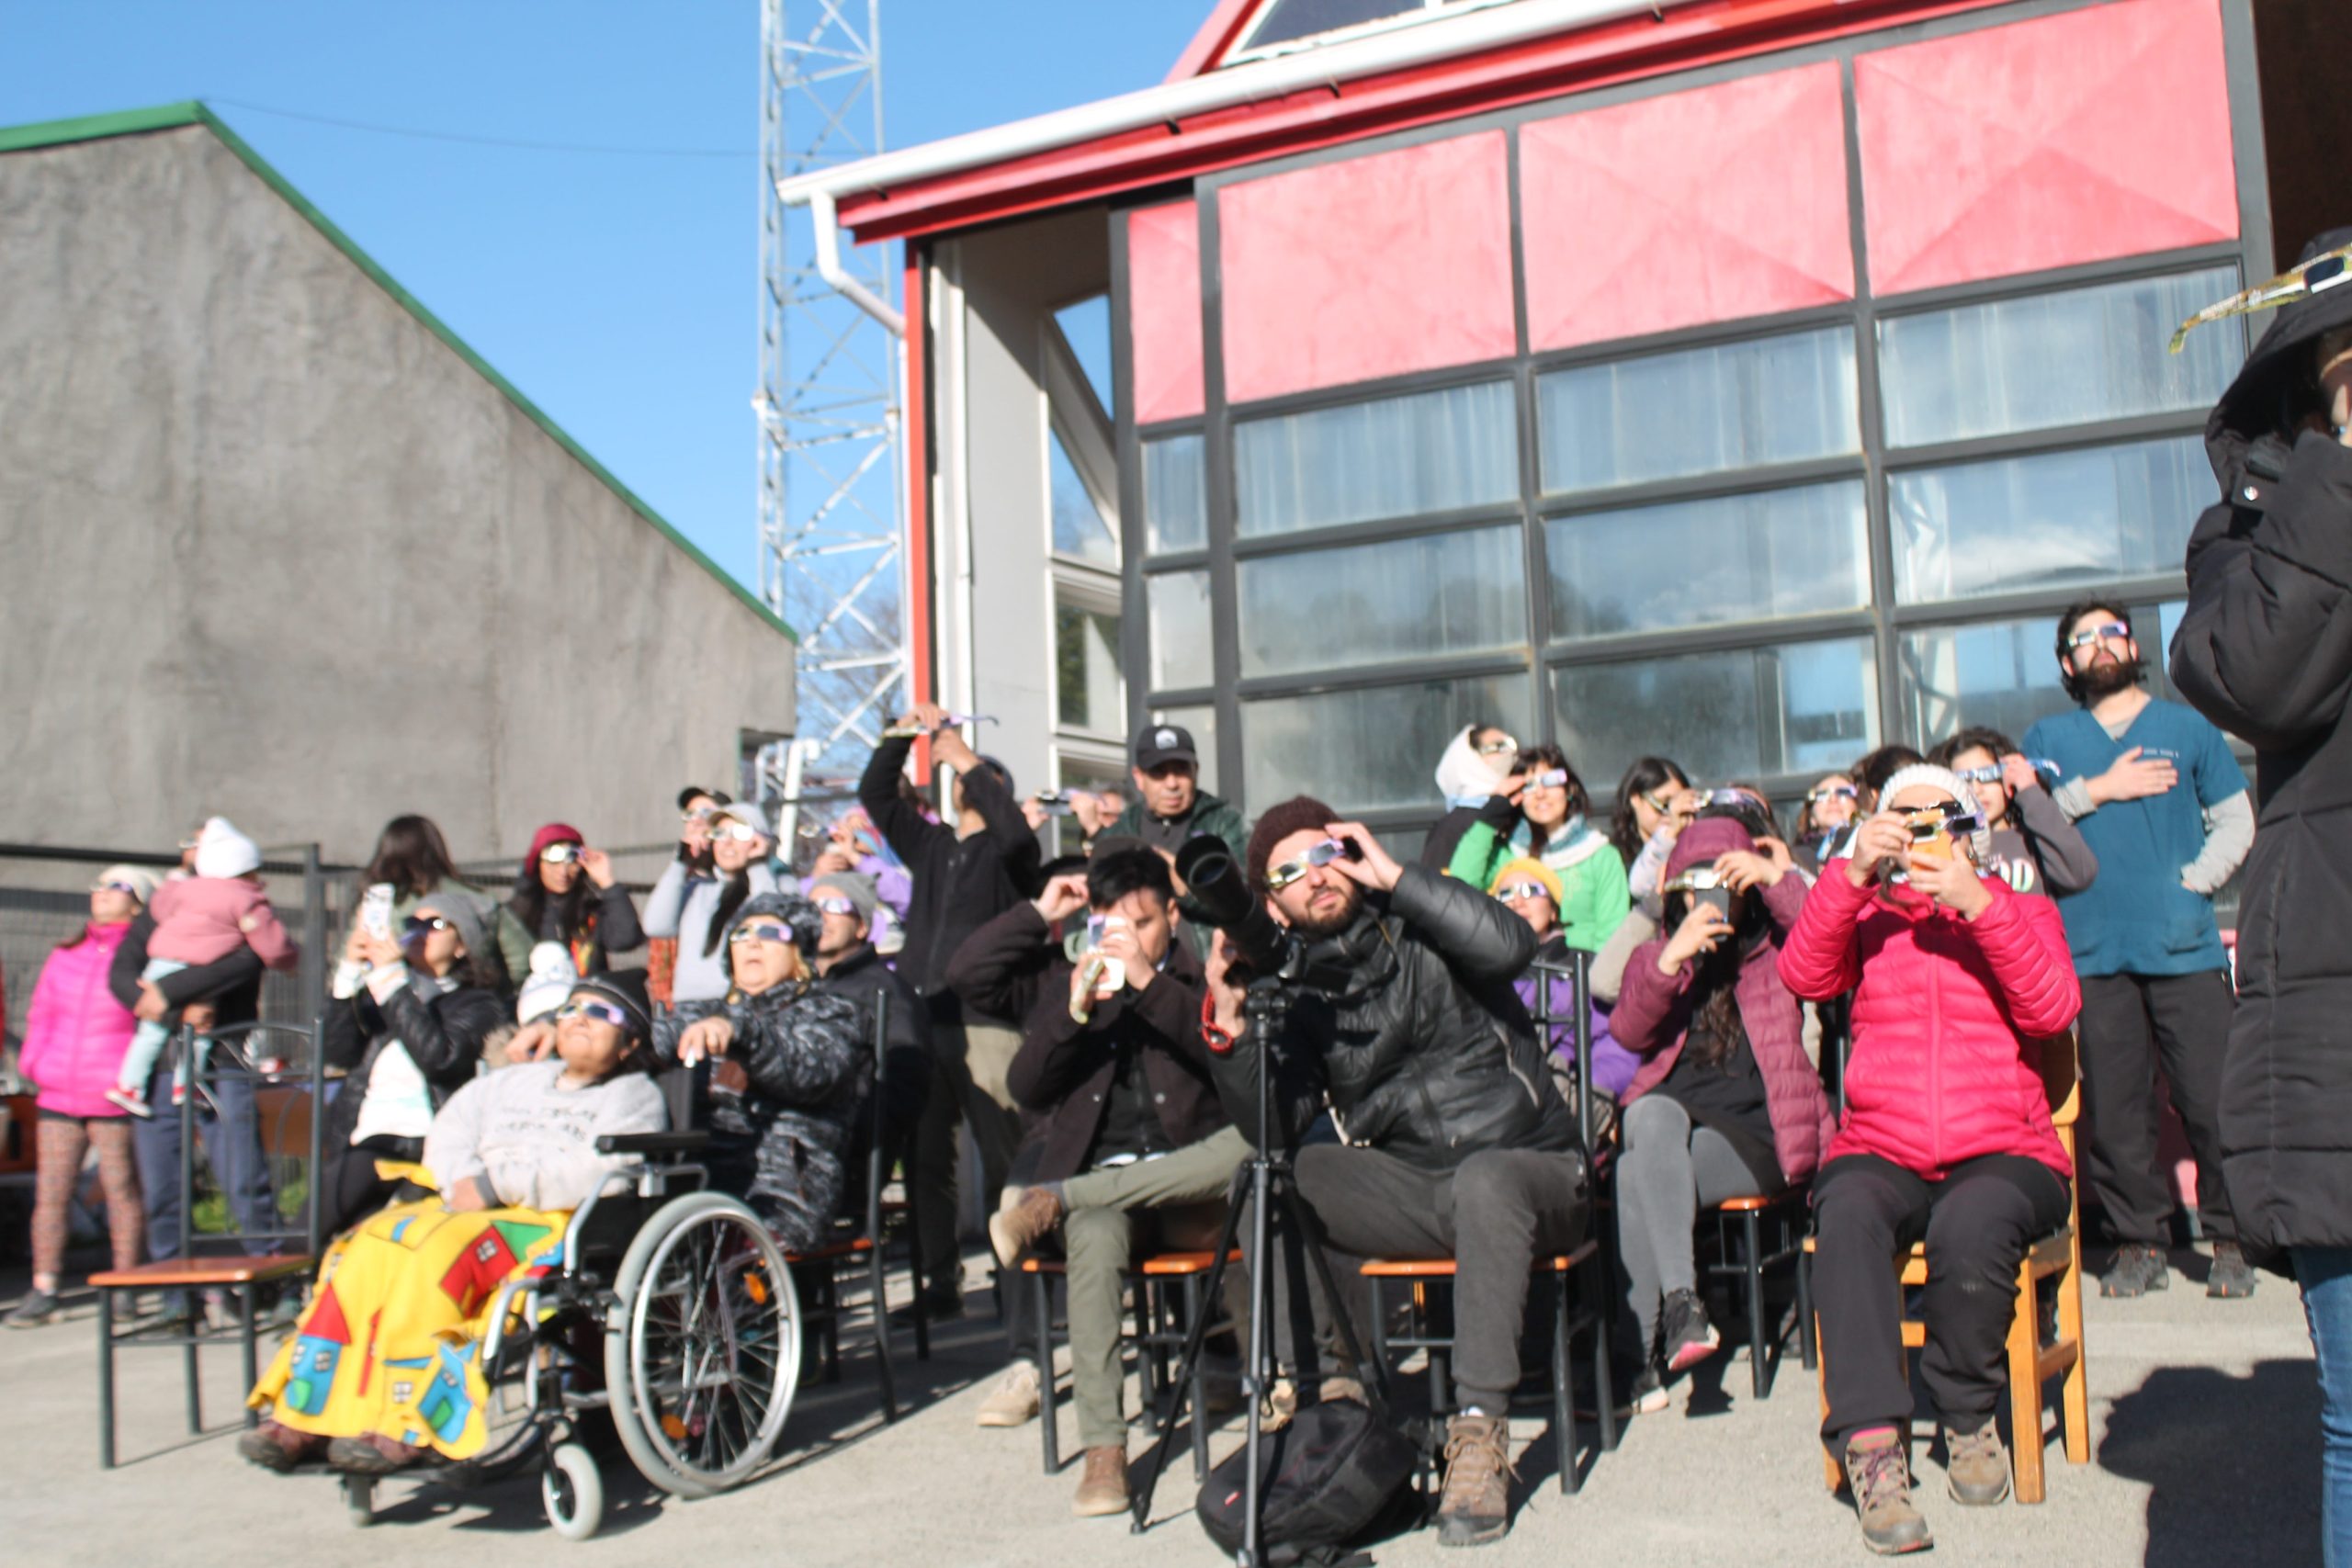
M 1249 736 L 1247 809 L 1261 813 L 1291 795 L 1334 811 L 1428 806 L 1437 813 L 1437 757 L 1463 724 L 1526 733 L 1526 677 L 1324 691 L 1242 703 Z

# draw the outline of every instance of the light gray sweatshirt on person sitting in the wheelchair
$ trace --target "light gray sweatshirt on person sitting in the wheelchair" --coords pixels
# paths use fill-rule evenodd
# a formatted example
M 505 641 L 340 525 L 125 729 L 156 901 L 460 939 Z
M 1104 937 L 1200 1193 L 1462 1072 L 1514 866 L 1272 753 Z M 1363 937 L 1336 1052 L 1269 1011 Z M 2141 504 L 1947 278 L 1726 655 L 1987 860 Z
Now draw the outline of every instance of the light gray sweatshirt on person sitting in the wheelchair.
M 426 1168 L 442 1192 L 487 1175 L 501 1204 L 579 1208 L 635 1154 L 597 1154 L 604 1133 L 659 1133 L 670 1124 L 661 1088 L 642 1072 L 564 1088 L 557 1058 L 466 1084 L 433 1117 Z

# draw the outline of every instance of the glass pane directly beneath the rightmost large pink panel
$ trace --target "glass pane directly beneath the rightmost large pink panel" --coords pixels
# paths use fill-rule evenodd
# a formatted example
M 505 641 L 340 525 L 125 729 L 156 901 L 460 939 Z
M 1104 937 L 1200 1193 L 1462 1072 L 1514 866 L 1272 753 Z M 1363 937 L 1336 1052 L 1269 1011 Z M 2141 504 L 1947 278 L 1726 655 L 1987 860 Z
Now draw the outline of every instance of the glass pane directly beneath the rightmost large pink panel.
M 1957 442 L 2206 409 L 2246 355 L 2237 327 L 2173 327 L 2237 292 L 2237 268 L 2140 277 L 1879 322 L 1886 442 Z

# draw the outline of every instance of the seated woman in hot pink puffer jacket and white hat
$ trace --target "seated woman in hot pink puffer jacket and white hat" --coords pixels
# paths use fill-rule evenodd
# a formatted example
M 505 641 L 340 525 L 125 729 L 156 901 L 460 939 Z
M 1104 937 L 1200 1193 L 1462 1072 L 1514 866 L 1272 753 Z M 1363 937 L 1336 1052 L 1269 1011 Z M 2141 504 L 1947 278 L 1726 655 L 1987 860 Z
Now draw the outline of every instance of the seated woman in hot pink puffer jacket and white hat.
M 2051 1126 L 2039 1041 L 2082 1011 L 2058 905 L 1978 867 L 1990 830 L 1969 785 L 1915 764 L 1886 778 L 1853 856 L 1830 860 L 1780 954 L 1799 997 L 1853 997 L 1846 1124 L 1813 1180 L 1828 1415 L 1863 1542 L 1917 1552 L 1903 1291 L 1893 1258 L 1926 1241 L 1919 1380 L 1943 1415 L 1947 1483 L 2009 1495 L 1992 1415 L 2018 1260 L 2067 1218 L 2072 1168 Z M 2039 1441 L 2039 1436 L 2034 1439 Z

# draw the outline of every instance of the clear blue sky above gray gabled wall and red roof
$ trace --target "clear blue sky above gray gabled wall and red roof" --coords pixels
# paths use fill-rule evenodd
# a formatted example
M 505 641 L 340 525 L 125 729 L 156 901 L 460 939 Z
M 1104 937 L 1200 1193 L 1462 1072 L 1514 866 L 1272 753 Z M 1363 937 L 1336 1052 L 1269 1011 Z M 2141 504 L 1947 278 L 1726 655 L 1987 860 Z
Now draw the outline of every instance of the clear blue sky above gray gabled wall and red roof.
M 884 0 L 887 139 L 1148 87 L 1207 12 Z M 755 581 L 755 0 L 0 0 L 0 125 L 212 99 L 623 484 Z M 741 155 L 463 146 L 261 108 Z

